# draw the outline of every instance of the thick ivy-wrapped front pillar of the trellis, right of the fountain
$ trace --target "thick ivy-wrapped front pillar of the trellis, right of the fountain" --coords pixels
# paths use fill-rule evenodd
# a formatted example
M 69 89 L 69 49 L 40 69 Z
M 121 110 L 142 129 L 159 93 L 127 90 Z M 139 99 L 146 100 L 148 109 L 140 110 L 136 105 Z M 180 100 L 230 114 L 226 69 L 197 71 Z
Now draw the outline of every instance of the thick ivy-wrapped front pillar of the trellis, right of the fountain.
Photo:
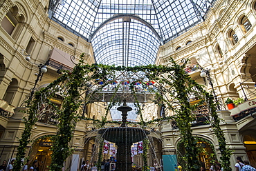
M 174 63 L 174 61 L 173 61 Z M 182 66 L 174 63 L 173 86 L 176 89 L 176 99 L 179 100 L 179 109 L 176 112 L 176 123 L 181 134 L 181 143 L 185 149 L 185 170 L 198 171 L 200 169 L 198 154 L 199 148 L 196 147 L 196 139 L 192 135 L 191 123 L 193 121 L 192 111 L 194 106 L 188 101 L 187 78 Z

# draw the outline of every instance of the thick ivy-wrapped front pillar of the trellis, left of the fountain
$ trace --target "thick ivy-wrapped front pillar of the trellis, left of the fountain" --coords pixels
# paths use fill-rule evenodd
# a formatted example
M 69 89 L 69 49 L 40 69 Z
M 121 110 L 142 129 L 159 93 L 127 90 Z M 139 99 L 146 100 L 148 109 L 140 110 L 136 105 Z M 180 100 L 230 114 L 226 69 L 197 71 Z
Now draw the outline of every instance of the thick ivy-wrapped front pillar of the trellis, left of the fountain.
M 77 122 L 77 109 L 80 107 L 80 88 L 84 82 L 85 70 L 82 66 L 83 55 L 81 56 L 80 63 L 75 66 L 73 72 L 69 74 L 69 81 L 66 83 L 66 97 L 64 98 L 62 108 L 59 113 L 57 134 L 53 137 L 53 154 L 51 162 L 52 171 L 60 171 L 63 168 L 63 163 L 66 158 L 72 154 L 70 143 L 73 137 L 73 130 Z

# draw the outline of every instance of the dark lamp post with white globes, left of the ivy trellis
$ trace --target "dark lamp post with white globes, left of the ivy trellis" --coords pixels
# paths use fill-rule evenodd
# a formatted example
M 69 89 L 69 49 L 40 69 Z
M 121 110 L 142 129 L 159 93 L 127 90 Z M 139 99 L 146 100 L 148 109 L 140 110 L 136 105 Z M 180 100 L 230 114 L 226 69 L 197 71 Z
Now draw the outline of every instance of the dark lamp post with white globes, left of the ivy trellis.
M 29 56 L 26 56 L 26 61 L 30 62 L 30 57 Z M 30 62 L 32 63 L 32 62 Z M 35 64 L 35 63 L 33 63 Z M 37 64 L 36 64 L 37 65 Z M 39 69 L 39 73 L 37 74 L 37 79 L 35 79 L 35 84 L 34 84 L 34 87 L 32 88 L 32 91 L 30 92 L 30 95 L 28 97 L 29 100 L 31 100 L 33 98 L 33 95 L 35 93 L 35 87 L 37 86 L 37 83 L 39 81 L 39 79 L 41 80 L 42 77 L 43 77 L 43 74 L 47 72 L 47 66 L 48 65 L 48 61 L 46 61 L 46 63 L 42 64 L 40 63 L 38 66 L 38 69 Z M 28 102 L 28 105 L 29 105 L 30 101 Z

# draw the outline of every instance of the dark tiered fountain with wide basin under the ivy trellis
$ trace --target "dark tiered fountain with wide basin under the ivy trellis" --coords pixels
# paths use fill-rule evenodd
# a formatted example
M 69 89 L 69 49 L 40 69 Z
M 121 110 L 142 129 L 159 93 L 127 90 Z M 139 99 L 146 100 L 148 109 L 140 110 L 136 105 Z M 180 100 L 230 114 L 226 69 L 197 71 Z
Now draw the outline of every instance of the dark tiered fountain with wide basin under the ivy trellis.
M 99 131 L 102 137 L 107 141 L 116 143 L 118 150 L 116 154 L 116 170 L 131 170 L 131 145 L 138 141 L 142 141 L 147 137 L 149 131 L 142 128 L 127 127 L 127 112 L 132 108 L 126 104 L 126 100 L 122 106 L 118 107 L 118 111 L 122 112 L 122 124 L 120 127 L 104 128 Z

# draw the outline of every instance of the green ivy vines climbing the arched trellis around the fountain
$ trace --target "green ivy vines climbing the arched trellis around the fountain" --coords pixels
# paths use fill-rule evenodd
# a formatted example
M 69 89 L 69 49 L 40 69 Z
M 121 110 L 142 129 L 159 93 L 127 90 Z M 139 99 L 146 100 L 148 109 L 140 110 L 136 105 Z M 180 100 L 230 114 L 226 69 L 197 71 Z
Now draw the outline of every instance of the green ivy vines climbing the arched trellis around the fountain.
M 82 54 L 80 63 L 75 66 L 73 72 L 65 72 L 62 77 L 54 81 L 47 88 L 40 90 L 39 92 L 35 92 L 34 98 L 29 99 L 27 101 L 28 110 L 26 113 L 28 114 L 28 119 L 24 119 L 25 122 L 25 130 L 19 139 L 20 146 L 18 148 L 17 153 L 17 162 L 15 163 L 15 170 L 20 170 L 21 159 L 24 158 L 26 145 L 29 143 L 30 134 L 32 130 L 32 126 L 35 125 L 37 121 L 38 104 L 42 103 L 42 101 L 47 101 L 47 98 L 53 95 L 57 91 L 57 84 L 66 81 L 66 91 L 64 92 L 64 101 L 62 105 L 63 110 L 58 111 L 58 121 L 57 124 L 57 135 L 54 137 L 54 145 L 53 145 L 53 154 L 52 154 L 52 164 L 51 170 L 61 170 L 63 167 L 63 163 L 66 158 L 73 152 L 68 143 L 71 141 L 73 136 L 72 131 L 75 129 L 75 124 L 82 117 L 77 113 L 78 108 L 81 105 L 80 101 L 80 92 L 87 91 L 88 87 L 84 87 L 82 83 L 86 81 L 91 81 L 95 79 L 107 80 L 108 75 L 113 71 L 126 71 L 126 72 L 145 72 L 146 77 L 149 80 L 158 81 L 160 85 L 163 85 L 161 89 L 158 90 L 150 90 L 154 92 L 155 99 L 154 101 L 158 105 L 165 105 L 168 109 L 173 110 L 176 115 L 174 117 L 165 117 L 163 119 L 154 119 L 153 121 L 145 122 L 143 120 L 140 104 L 138 103 L 138 99 L 136 97 L 136 91 L 134 90 L 134 84 L 131 84 L 130 89 L 134 94 L 136 106 L 139 108 L 138 114 L 140 115 L 140 125 L 147 125 L 150 123 L 154 123 L 156 121 L 162 120 L 170 120 L 174 119 L 179 127 L 181 134 L 181 142 L 185 147 L 185 169 L 186 170 L 199 170 L 199 161 L 196 159 L 196 155 L 199 150 L 196 148 L 196 138 L 192 136 L 191 123 L 194 119 L 194 114 L 192 111 L 195 110 L 196 105 L 191 105 L 188 101 L 190 92 L 194 94 L 200 95 L 206 99 L 208 103 L 208 107 L 210 109 L 210 114 L 212 116 L 212 128 L 214 130 L 214 134 L 217 135 L 219 141 L 219 147 L 221 150 L 221 161 L 223 164 L 224 170 L 230 170 L 230 150 L 226 148 L 226 139 L 224 137 L 223 131 L 220 128 L 220 119 L 217 116 L 216 106 L 214 104 L 214 100 L 212 95 L 203 90 L 202 86 L 199 86 L 194 80 L 190 79 L 188 74 L 185 74 L 185 63 L 183 66 L 179 66 L 175 63 L 173 59 L 171 59 L 172 66 L 135 66 L 135 67 L 125 67 L 125 66 L 105 66 L 102 64 L 93 64 L 93 65 L 83 65 L 82 58 L 84 54 Z M 91 74 L 90 74 L 91 73 Z M 89 76 L 91 75 L 91 76 Z M 167 76 L 166 76 L 167 75 Z M 139 80 L 138 80 L 139 81 Z M 107 86 L 110 82 L 104 83 L 100 88 Z M 145 86 L 145 84 L 143 85 Z M 95 94 L 98 90 L 94 90 L 91 96 Z M 197 91 L 194 91 L 193 88 L 196 88 Z M 173 90 L 174 89 L 174 90 Z M 117 90 L 116 90 L 117 91 Z M 116 92 L 115 92 L 116 93 Z M 46 99 L 41 99 L 42 94 L 48 94 L 44 97 Z M 165 94 L 169 94 L 170 98 L 173 101 L 170 101 Z M 90 102 L 90 97 L 85 97 L 85 103 Z M 106 123 L 111 123 L 107 121 L 107 114 L 112 105 L 116 102 L 113 101 L 113 97 L 111 98 L 111 103 L 107 107 L 107 111 L 102 120 L 83 118 L 90 121 L 95 121 L 101 123 L 101 127 L 104 127 Z M 201 101 L 203 103 L 203 99 Z M 198 105 L 198 104 L 197 104 Z M 116 123 L 116 122 L 112 122 Z M 148 140 L 145 139 L 143 141 L 145 145 L 145 153 L 143 153 L 143 161 L 144 166 L 147 165 L 146 157 L 147 157 L 147 148 L 148 148 Z M 144 150 L 143 150 L 144 152 Z M 99 156 L 100 159 L 100 156 Z

